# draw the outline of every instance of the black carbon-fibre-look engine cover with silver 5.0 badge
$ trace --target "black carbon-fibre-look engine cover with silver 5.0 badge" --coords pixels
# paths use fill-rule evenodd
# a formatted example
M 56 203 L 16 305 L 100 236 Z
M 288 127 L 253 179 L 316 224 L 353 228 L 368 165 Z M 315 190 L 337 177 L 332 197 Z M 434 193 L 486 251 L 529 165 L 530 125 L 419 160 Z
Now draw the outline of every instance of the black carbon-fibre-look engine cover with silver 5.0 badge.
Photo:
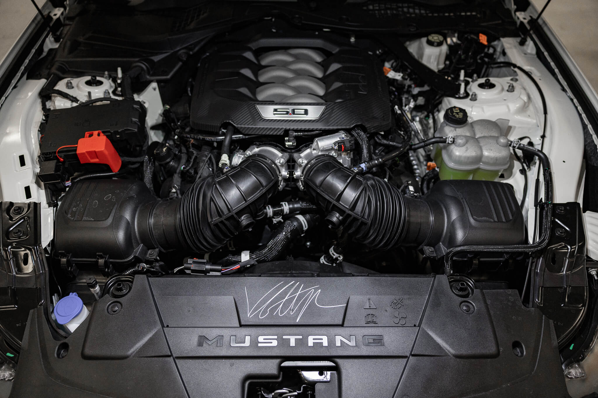
M 322 39 L 220 45 L 202 59 L 191 103 L 191 126 L 213 132 L 224 123 L 245 134 L 356 125 L 381 131 L 390 118 L 379 60 Z

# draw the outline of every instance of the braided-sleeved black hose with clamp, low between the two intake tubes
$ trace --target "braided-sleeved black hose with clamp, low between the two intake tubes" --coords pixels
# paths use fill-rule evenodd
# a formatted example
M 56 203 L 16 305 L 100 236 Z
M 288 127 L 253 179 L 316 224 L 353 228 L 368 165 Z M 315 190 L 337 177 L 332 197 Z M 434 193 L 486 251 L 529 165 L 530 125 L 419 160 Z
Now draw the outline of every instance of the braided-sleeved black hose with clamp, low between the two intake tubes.
M 265 248 L 249 252 L 249 260 L 255 260 L 258 263 L 276 260 L 285 251 L 289 243 L 303 235 L 307 229 L 316 226 L 319 219 L 320 217 L 315 214 L 295 215 L 289 218 L 273 233 Z M 224 259 L 224 263 L 234 264 L 239 263 L 241 260 L 240 255 L 228 255 Z

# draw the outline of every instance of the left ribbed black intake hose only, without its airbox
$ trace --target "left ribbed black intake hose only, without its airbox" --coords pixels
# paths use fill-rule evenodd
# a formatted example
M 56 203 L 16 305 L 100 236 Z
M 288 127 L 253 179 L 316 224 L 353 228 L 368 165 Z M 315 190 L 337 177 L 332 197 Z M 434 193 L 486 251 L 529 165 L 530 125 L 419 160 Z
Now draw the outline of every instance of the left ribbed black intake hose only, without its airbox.
M 252 155 L 230 171 L 200 178 L 181 199 L 158 200 L 139 209 L 139 240 L 148 247 L 206 253 L 250 229 L 277 192 L 278 169 Z

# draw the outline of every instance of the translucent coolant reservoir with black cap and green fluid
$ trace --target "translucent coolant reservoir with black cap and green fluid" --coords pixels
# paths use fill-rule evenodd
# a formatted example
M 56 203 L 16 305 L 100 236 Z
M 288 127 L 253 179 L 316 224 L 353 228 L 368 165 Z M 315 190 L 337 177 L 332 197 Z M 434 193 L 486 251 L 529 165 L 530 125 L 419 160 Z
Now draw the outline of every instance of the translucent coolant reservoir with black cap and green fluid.
M 509 165 L 509 140 L 493 121 L 469 123 L 465 109 L 453 106 L 444 113 L 437 137 L 452 135 L 452 144 L 434 149 L 441 180 L 496 180 Z

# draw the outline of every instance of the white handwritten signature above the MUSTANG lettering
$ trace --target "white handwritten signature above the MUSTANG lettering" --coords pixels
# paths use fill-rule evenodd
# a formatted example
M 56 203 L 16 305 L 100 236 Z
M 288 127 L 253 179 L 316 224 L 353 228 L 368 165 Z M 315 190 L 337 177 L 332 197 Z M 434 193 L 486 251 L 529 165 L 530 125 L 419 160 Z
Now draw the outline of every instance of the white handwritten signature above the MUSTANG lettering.
M 270 310 L 273 310 L 273 314 L 278 314 L 279 316 L 283 316 L 286 313 L 290 313 L 291 315 L 293 315 L 297 312 L 297 310 L 299 310 L 297 320 L 295 321 L 299 322 L 299 320 L 301 319 L 301 315 L 307 309 L 307 306 L 309 306 L 309 303 L 311 303 L 312 300 L 316 304 L 316 306 L 321 308 L 344 307 L 347 305 L 339 304 L 338 306 L 321 306 L 320 304 L 318 304 L 318 295 L 320 294 L 321 289 L 316 290 L 316 288 L 319 288 L 319 285 L 311 286 L 309 288 L 303 288 L 303 283 L 301 283 L 301 286 L 299 286 L 300 282 L 295 281 L 288 283 L 286 286 L 283 286 L 282 289 L 274 293 L 274 289 L 278 288 L 283 283 L 285 282 L 280 282 L 278 285 L 271 288 L 269 292 L 264 294 L 262 298 L 260 298 L 260 300 L 258 300 L 258 302 L 255 303 L 255 306 L 253 306 L 251 310 L 249 309 L 249 297 L 247 294 L 247 286 L 245 286 L 245 298 L 247 299 L 247 316 L 251 318 L 255 314 L 258 314 L 260 319 L 262 319 L 270 313 Z M 287 290 L 291 285 L 293 286 L 289 290 Z M 295 291 L 295 289 L 297 289 L 297 291 Z M 285 290 L 286 295 L 284 296 L 284 298 L 282 298 L 285 294 Z M 270 294 L 274 295 L 272 295 L 269 298 L 269 300 L 267 300 Z M 301 294 L 303 294 L 303 297 L 300 298 L 299 296 Z M 276 301 L 276 303 L 272 303 L 274 300 L 276 300 L 276 297 L 282 298 L 282 300 Z M 300 300 L 297 302 L 299 298 Z

